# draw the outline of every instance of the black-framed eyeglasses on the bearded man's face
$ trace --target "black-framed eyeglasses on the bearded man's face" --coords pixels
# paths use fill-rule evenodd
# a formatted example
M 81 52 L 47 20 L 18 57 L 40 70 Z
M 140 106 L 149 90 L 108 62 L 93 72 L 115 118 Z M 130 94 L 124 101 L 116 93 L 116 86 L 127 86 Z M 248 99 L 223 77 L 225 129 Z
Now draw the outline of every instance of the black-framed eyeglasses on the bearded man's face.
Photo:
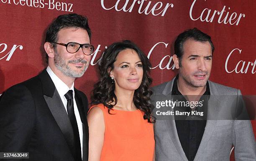
M 56 43 L 56 42 L 53 42 Z M 85 55 L 91 55 L 94 51 L 94 47 L 90 44 L 80 44 L 80 43 L 73 43 L 69 42 L 67 44 L 65 43 L 56 43 L 62 46 L 66 46 L 67 52 L 69 53 L 76 53 L 80 48 L 82 48 L 82 51 Z

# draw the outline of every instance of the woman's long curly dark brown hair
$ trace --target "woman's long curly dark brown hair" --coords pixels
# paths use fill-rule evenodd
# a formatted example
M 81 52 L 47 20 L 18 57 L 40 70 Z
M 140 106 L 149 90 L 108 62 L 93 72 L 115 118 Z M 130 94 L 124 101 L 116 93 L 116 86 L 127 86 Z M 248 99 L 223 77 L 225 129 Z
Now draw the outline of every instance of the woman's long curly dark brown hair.
M 150 77 L 151 63 L 146 55 L 138 48 L 138 46 L 131 41 L 125 40 L 122 42 L 115 42 L 111 44 L 100 58 L 98 65 L 100 70 L 100 80 L 95 84 L 92 95 L 92 105 L 102 103 L 105 107 L 108 107 L 108 113 L 117 104 L 118 98 L 116 97 L 114 90 L 115 84 L 112 83 L 110 77 L 110 71 L 114 68 L 114 62 L 116 57 L 125 49 L 133 49 L 138 53 L 139 58 L 142 62 L 143 77 L 140 87 L 135 90 L 133 96 L 134 105 L 141 111 L 144 112 L 144 120 L 148 120 L 149 123 L 154 123 L 155 119 L 151 115 L 151 103 L 150 97 L 152 91 L 149 89 L 152 79 Z M 114 103 L 114 105 L 112 105 Z

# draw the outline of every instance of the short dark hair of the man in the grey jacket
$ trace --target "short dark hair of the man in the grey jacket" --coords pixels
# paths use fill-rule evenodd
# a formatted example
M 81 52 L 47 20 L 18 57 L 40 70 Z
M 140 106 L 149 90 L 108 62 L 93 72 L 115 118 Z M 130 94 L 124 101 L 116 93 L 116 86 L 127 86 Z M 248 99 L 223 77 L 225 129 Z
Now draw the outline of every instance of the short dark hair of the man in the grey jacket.
M 206 33 L 203 33 L 202 31 L 198 30 L 197 28 L 188 29 L 183 33 L 180 33 L 174 43 L 174 54 L 176 54 L 177 57 L 179 58 L 179 62 L 181 61 L 182 55 L 183 55 L 183 45 L 185 41 L 187 41 L 188 39 L 192 39 L 200 42 L 208 41 L 211 45 L 212 54 L 213 54 L 214 46 L 213 46 L 211 37 Z

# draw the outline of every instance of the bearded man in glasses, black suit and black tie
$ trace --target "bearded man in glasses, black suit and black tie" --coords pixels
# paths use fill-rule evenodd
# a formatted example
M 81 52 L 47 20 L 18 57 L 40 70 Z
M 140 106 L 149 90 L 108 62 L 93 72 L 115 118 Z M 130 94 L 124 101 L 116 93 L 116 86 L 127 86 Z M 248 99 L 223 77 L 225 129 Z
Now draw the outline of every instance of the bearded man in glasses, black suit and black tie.
M 0 152 L 29 152 L 33 161 L 88 160 L 88 101 L 74 80 L 90 63 L 90 39 L 81 15 L 51 23 L 44 43 L 48 67 L 10 87 L 0 101 Z

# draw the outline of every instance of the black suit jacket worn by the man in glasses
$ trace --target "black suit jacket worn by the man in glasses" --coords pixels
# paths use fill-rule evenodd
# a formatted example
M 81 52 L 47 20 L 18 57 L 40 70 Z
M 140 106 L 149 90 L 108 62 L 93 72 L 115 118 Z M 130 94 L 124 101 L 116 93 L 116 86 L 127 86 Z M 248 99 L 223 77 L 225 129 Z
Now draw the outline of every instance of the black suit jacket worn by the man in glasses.
M 83 92 L 74 92 L 83 125 L 83 161 L 87 161 L 88 101 Z M 29 152 L 26 161 L 74 161 L 73 139 L 67 112 L 46 69 L 10 87 L 1 98 L 0 152 Z

